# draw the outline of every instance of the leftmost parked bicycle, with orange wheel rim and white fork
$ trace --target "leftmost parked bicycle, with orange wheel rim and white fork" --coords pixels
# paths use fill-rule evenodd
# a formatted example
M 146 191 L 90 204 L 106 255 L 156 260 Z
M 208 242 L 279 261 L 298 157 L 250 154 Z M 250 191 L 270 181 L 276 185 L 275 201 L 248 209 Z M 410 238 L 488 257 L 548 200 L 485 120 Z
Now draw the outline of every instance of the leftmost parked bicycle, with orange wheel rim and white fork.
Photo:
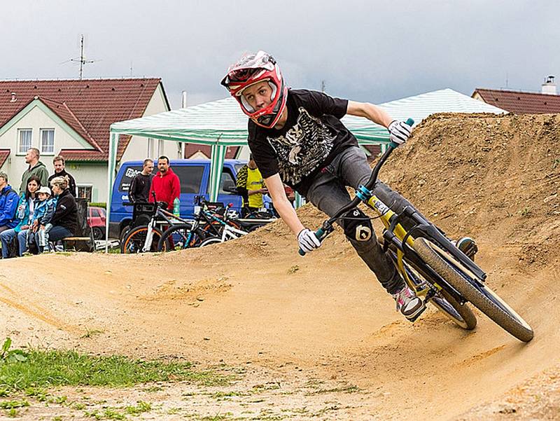
M 163 225 L 189 223 L 185 219 L 172 214 L 166 210 L 166 202 L 144 203 L 144 212 L 150 215 L 150 220 L 146 225 L 137 226 L 130 229 L 120 242 L 120 252 L 123 254 L 146 253 L 147 251 L 166 251 L 171 248 L 172 242 L 169 239 L 158 247 L 163 237 L 163 232 L 158 228 Z

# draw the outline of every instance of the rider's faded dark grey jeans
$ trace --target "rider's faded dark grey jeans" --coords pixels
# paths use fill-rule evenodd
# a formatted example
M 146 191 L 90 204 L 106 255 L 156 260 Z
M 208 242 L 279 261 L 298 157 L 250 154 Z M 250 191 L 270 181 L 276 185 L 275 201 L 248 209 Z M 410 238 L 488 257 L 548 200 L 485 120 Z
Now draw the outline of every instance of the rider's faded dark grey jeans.
M 372 169 L 367 163 L 365 153 L 357 146 L 353 146 L 344 150 L 316 175 L 307 192 L 307 200 L 325 214 L 332 216 L 351 200 L 346 186 L 358 188 L 360 184 L 367 182 L 371 174 Z M 402 211 L 405 206 L 412 206 L 381 181 L 377 181 L 373 193 L 395 212 Z M 339 219 L 337 223 L 344 228 L 346 222 Z M 367 241 L 352 238 L 349 238 L 349 241 L 389 294 L 395 294 L 404 287 L 405 282 L 395 269 L 391 258 L 381 249 L 376 235 L 372 234 Z

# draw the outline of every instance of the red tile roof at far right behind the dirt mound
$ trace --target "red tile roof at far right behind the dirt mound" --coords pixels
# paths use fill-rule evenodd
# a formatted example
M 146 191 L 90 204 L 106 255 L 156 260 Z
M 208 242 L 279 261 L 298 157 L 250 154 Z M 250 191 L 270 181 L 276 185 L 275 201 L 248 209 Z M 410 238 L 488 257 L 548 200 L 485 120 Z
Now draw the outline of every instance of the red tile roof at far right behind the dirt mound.
M 517 114 L 560 113 L 560 95 L 539 92 L 477 88 L 471 97 L 479 94 L 486 104 Z

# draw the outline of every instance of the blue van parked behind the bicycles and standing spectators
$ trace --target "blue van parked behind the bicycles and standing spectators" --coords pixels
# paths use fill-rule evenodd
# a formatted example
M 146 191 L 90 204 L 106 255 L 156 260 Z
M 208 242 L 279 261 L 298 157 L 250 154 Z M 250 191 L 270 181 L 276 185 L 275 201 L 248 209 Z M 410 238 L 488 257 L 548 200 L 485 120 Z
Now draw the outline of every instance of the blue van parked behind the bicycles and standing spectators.
M 132 221 L 132 206 L 129 203 L 128 188 L 134 176 L 142 171 L 144 160 L 127 161 L 120 165 L 111 198 L 109 237 L 119 238 L 120 233 Z M 233 203 L 233 209 L 241 212 L 243 198 L 232 192 L 237 180 L 237 171 L 246 163 L 240 160 L 225 160 L 222 180 L 218 192 L 218 202 Z M 173 172 L 181 181 L 181 217 L 193 218 L 196 195 L 209 197 L 210 160 L 171 160 Z M 157 170 L 157 169 L 156 169 Z

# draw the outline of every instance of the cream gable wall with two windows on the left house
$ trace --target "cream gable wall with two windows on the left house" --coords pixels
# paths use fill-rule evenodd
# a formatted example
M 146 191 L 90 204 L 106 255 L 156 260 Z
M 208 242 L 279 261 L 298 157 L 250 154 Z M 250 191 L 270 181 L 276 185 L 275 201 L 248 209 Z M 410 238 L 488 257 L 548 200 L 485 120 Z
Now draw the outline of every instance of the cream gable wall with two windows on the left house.
M 10 149 L 10 156 L 2 165 L 1 170 L 8 173 L 10 185 L 18 190 L 22 174 L 27 170 L 27 163 L 25 163 L 25 153 L 19 152 L 19 132 L 18 129 L 31 129 L 31 147 L 41 151 L 41 129 L 54 129 L 55 130 L 55 148 L 54 153 L 41 154 L 41 162 L 45 164 L 49 174 L 55 172 L 52 165 L 52 158 L 55 153 L 60 149 L 93 149 L 91 145 L 86 144 L 85 141 L 78 142 L 76 139 L 64 130 L 62 125 L 59 125 L 52 120 L 47 113 L 45 113 L 39 106 L 34 106 L 25 116 L 23 116 L 18 123 L 15 123 L 9 130 L 0 136 L 0 149 Z

